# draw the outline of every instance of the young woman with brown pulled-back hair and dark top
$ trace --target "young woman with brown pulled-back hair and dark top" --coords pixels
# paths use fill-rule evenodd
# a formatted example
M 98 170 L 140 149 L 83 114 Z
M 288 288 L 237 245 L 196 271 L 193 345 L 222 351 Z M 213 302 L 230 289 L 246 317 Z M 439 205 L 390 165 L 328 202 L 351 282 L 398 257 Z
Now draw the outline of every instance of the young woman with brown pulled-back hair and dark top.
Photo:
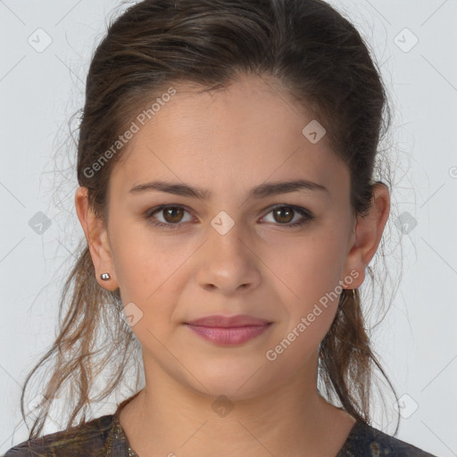
M 388 110 L 353 25 L 321 0 L 145 0 L 86 95 L 86 239 L 29 375 L 54 360 L 40 413 L 6 456 L 431 455 L 370 425 L 384 372 L 359 287 L 390 208 Z M 87 421 L 131 366 L 144 386 Z M 64 389 L 67 427 L 39 436 Z

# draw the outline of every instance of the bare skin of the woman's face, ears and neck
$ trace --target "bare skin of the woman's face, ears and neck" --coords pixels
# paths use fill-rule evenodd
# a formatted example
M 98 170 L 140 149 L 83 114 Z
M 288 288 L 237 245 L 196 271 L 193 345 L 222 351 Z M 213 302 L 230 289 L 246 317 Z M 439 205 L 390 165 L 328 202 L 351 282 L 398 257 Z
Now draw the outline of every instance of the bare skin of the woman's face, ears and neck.
M 132 331 L 143 346 L 145 388 L 121 411 L 120 424 L 142 456 L 298 456 L 303 449 L 334 456 L 354 420 L 319 395 L 316 380 L 338 300 L 275 361 L 265 354 L 351 271 L 358 276 L 346 288 L 361 286 L 388 217 L 388 189 L 377 184 L 370 213 L 353 217 L 345 163 L 326 137 L 317 144 L 304 137 L 312 116 L 258 77 L 212 93 L 177 88 L 112 170 L 108 221 L 95 217 L 85 187 L 75 196 L 100 286 L 120 287 L 124 305 L 143 312 Z M 129 194 L 153 179 L 202 187 L 212 197 Z M 290 179 L 328 191 L 248 198 L 252 187 Z M 160 204 L 185 206 L 174 219 L 154 214 L 178 228 L 148 222 L 144 213 Z M 305 208 L 314 219 L 287 228 L 303 216 L 275 218 L 278 204 Z M 224 235 L 211 225 L 220 211 L 235 222 Z M 104 272 L 109 281 L 100 279 Z M 215 345 L 183 324 L 240 313 L 273 324 L 236 346 Z M 224 417 L 212 409 L 219 395 L 233 406 Z

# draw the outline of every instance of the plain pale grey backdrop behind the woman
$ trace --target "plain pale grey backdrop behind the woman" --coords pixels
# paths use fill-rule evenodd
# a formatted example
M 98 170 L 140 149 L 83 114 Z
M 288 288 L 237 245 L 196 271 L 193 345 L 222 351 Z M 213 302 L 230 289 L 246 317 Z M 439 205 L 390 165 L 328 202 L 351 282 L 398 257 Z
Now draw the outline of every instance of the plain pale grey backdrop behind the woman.
M 401 244 L 403 273 L 371 336 L 401 396 L 397 437 L 457 455 L 457 1 L 329 3 L 368 40 L 395 108 L 397 213 L 387 252 L 400 277 Z M 68 123 L 83 105 L 90 56 L 117 5 L 0 0 L 0 453 L 27 438 L 21 385 L 54 340 L 62 280 L 83 236 Z M 378 421 L 387 433 L 392 427 Z

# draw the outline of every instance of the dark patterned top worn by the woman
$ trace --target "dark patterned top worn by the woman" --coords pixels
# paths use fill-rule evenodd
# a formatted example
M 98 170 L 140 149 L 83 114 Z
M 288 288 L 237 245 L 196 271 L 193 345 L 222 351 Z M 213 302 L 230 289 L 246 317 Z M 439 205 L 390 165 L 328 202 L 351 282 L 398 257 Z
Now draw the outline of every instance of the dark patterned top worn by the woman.
M 135 396 L 135 395 L 133 395 Z M 79 426 L 15 445 L 4 457 L 139 457 L 120 426 L 120 410 Z M 436 457 L 357 420 L 336 457 Z

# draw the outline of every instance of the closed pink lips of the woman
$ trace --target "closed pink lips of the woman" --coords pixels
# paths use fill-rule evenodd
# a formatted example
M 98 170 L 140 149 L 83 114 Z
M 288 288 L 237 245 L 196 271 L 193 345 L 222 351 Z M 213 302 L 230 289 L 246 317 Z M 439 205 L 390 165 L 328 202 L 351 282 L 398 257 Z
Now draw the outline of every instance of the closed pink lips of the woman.
M 200 337 L 219 345 L 240 345 L 261 335 L 270 327 L 268 320 L 238 314 L 237 316 L 206 316 L 186 322 Z

